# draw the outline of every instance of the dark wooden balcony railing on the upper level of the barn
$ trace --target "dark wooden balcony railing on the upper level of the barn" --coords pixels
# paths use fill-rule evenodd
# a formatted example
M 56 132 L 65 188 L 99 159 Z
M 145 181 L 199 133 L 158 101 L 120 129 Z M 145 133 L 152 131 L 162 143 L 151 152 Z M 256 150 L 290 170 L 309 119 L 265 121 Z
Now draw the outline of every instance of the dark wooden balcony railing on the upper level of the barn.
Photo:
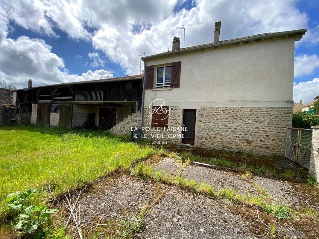
M 131 101 L 141 97 L 140 89 L 77 91 L 74 101 Z

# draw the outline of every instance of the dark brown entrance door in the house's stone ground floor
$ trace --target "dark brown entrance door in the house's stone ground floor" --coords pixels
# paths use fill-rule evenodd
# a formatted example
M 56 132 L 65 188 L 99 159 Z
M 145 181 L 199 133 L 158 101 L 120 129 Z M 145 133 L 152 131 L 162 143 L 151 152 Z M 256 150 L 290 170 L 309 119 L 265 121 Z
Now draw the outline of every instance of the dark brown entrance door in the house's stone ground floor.
M 182 143 L 194 144 L 195 123 L 196 123 L 196 109 L 183 110 L 183 127 L 187 127 L 187 130 L 183 131 L 184 138 L 182 138 Z

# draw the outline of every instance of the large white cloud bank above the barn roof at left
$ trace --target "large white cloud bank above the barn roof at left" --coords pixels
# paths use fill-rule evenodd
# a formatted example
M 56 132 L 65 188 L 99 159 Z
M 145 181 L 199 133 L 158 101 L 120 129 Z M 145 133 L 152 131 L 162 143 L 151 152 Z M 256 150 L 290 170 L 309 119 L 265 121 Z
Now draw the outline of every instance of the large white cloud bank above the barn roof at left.
M 0 43 L 0 80 L 25 88 L 28 79 L 37 86 L 113 77 L 104 69 L 89 70 L 80 76 L 70 74 L 63 59 L 52 53 L 51 48 L 44 40 L 26 36 L 4 39 Z

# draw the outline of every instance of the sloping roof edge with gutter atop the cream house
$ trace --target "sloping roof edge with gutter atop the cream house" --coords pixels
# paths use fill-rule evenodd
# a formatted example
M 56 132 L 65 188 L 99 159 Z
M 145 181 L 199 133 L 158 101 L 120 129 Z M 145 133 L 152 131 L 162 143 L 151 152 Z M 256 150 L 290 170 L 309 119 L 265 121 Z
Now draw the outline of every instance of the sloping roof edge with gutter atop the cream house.
M 229 39 L 229 40 L 216 41 L 216 42 L 206 43 L 206 44 L 192 46 L 192 47 L 180 48 L 180 49 L 174 50 L 174 51 L 167 51 L 167 52 L 163 52 L 163 53 L 159 53 L 159 54 L 144 56 L 144 57 L 141 57 L 141 59 L 145 60 L 148 58 L 154 58 L 154 57 L 159 57 L 159 56 L 164 56 L 164 55 L 172 55 L 172 54 L 181 53 L 181 52 L 189 52 L 189 51 L 204 49 L 204 48 L 208 48 L 208 47 L 218 47 L 218 46 L 223 46 L 223 45 L 238 44 L 241 42 L 252 41 L 252 40 L 263 40 L 263 39 L 267 39 L 267 38 L 275 38 L 275 37 L 280 37 L 280 36 L 291 36 L 291 35 L 297 35 L 297 34 L 305 35 L 307 30 L 308 29 L 299 29 L 299 30 L 286 31 L 286 32 L 262 33 L 262 34 L 247 36 L 247 37 L 240 37 L 240 38 L 234 38 L 234 39 Z

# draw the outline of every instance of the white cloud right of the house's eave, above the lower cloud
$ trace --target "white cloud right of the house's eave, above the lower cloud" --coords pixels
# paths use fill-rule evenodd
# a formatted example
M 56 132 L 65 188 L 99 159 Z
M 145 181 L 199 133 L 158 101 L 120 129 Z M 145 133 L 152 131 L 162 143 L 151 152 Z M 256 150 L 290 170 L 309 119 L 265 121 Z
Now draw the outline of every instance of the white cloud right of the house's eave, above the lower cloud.
M 294 77 L 310 75 L 317 68 L 319 68 L 319 57 L 316 54 L 295 56 Z

